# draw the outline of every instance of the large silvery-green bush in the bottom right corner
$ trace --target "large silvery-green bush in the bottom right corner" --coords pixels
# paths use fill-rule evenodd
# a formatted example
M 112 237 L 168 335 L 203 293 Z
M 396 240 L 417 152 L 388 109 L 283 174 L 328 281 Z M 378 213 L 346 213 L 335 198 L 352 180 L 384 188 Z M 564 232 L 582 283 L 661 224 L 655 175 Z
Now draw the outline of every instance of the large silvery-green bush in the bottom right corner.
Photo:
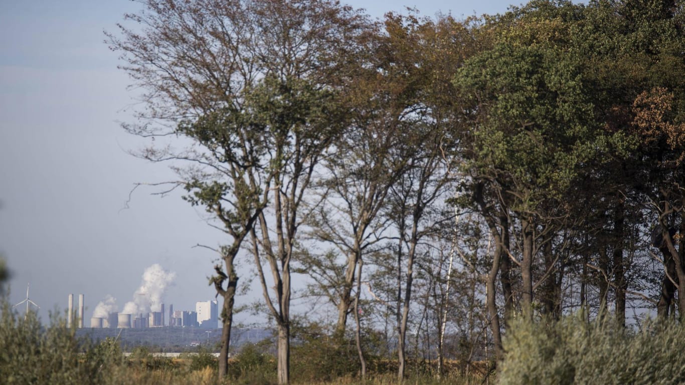
M 500 384 L 685 384 L 685 325 L 648 323 L 640 332 L 582 316 L 512 322 Z

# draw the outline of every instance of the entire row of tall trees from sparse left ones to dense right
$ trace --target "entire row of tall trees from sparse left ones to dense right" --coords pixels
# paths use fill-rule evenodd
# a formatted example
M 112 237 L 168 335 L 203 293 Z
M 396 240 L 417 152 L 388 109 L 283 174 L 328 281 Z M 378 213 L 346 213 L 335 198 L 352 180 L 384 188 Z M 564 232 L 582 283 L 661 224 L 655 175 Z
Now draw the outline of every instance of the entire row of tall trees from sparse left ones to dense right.
M 108 34 L 147 91 L 125 128 L 226 234 L 220 376 L 238 262 L 275 323 L 280 384 L 303 276 L 336 313 L 304 318 L 355 345 L 362 378 L 373 355 L 399 379 L 408 358 L 501 360 L 514 318 L 685 314 L 682 2 L 536 0 L 462 21 L 144 3 Z

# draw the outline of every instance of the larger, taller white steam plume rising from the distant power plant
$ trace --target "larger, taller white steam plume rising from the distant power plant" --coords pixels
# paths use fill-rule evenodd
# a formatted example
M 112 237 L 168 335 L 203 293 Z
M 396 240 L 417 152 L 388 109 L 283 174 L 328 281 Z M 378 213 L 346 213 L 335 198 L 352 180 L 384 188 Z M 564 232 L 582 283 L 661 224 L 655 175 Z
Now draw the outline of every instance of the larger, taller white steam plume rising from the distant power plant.
M 139 314 L 162 310 L 162 296 L 176 278 L 176 273 L 166 271 L 160 264 L 153 264 L 142 273 L 142 283 L 133 295 L 133 301 L 124 305 L 122 313 Z

